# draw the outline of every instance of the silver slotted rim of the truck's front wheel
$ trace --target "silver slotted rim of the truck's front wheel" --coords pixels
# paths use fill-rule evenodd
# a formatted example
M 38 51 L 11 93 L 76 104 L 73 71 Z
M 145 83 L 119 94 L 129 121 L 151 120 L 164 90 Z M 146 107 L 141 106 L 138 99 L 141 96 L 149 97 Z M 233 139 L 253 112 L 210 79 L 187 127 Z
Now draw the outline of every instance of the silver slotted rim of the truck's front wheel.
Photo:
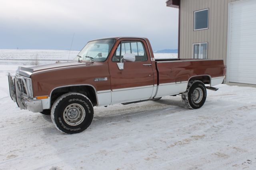
M 73 103 L 68 105 L 63 114 L 64 121 L 70 126 L 80 125 L 85 118 L 85 110 L 82 105 Z

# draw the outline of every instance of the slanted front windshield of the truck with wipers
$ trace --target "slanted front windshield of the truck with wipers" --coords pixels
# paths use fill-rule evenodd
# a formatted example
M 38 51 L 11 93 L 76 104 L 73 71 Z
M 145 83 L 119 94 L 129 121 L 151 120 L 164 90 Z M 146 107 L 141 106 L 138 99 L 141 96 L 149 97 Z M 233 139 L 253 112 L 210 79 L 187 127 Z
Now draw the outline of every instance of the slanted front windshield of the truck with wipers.
M 80 57 L 80 61 L 106 61 L 114 42 L 114 39 L 88 42 L 74 60 Z

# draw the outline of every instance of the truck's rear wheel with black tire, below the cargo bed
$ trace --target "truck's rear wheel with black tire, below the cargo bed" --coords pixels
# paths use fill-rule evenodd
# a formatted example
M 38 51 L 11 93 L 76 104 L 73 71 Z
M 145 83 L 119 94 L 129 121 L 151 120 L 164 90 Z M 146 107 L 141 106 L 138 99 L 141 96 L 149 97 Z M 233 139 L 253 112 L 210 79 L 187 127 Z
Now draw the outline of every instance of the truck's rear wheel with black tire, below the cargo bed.
M 197 101 L 198 103 L 196 103 L 193 99 L 193 93 L 195 90 L 202 92 L 202 99 Z M 187 90 L 182 93 L 182 101 L 184 105 L 189 109 L 199 109 L 204 105 L 206 96 L 207 92 L 204 83 L 202 81 L 192 80 L 188 82 Z

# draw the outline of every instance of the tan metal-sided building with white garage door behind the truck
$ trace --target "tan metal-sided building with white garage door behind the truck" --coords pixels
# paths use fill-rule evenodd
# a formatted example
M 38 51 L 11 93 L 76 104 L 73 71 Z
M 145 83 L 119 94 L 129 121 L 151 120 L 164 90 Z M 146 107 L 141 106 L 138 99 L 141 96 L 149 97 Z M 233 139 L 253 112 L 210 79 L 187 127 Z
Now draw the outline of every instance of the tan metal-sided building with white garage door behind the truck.
M 227 82 L 256 84 L 256 0 L 167 0 L 180 58 L 224 59 Z

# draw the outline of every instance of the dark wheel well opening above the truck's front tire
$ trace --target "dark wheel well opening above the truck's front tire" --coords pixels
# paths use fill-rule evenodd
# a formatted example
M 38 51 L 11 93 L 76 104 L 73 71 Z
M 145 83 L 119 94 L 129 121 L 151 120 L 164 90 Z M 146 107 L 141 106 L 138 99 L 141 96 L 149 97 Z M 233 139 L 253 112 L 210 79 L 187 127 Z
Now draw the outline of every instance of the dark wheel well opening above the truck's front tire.
M 70 93 L 70 92 L 81 93 L 81 94 L 85 95 L 86 97 L 88 97 L 90 99 L 93 106 L 96 106 L 98 104 L 96 92 L 93 87 L 86 86 L 86 85 L 78 85 L 78 86 L 68 86 L 68 87 L 60 87 L 58 89 L 54 89 L 54 91 L 52 91 L 52 93 L 51 93 L 51 107 L 52 107 L 54 101 L 56 101 L 56 99 L 58 99 L 58 97 L 60 97 L 61 95 L 65 94 L 65 93 Z

